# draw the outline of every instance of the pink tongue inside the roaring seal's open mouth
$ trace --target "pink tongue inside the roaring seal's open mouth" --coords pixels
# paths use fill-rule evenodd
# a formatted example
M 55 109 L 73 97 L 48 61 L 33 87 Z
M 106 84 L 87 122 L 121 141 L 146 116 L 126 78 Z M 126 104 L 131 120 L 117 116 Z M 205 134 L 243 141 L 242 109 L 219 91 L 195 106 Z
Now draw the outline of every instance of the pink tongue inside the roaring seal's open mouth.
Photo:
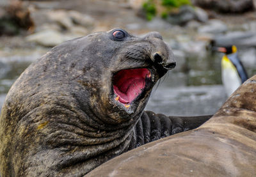
M 119 96 L 119 102 L 128 104 L 132 102 L 138 95 L 140 95 L 142 89 L 145 87 L 145 79 L 143 77 L 132 77 L 127 79 L 118 88 L 113 86 L 114 92 Z

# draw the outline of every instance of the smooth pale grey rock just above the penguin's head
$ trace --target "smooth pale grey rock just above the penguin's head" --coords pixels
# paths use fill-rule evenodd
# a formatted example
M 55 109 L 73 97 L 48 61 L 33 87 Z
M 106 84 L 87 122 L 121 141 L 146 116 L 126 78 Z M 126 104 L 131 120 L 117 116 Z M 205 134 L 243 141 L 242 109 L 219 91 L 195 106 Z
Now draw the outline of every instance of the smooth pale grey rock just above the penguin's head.
M 221 20 L 209 20 L 206 25 L 198 27 L 198 33 L 220 34 L 226 32 L 227 25 Z

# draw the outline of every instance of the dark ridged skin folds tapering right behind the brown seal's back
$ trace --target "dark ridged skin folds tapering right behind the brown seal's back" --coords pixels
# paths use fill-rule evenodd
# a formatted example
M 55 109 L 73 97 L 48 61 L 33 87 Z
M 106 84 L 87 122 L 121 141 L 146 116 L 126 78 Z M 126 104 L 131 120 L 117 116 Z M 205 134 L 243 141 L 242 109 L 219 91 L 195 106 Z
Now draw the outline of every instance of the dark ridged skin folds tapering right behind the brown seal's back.
M 165 116 L 156 114 L 152 111 L 144 111 L 138 121 L 133 139 L 129 149 L 136 148 L 148 142 L 167 137 L 169 135 L 193 130 L 200 127 L 205 121 L 209 120 L 212 115 L 207 116 Z M 132 145 L 133 144 L 133 145 Z

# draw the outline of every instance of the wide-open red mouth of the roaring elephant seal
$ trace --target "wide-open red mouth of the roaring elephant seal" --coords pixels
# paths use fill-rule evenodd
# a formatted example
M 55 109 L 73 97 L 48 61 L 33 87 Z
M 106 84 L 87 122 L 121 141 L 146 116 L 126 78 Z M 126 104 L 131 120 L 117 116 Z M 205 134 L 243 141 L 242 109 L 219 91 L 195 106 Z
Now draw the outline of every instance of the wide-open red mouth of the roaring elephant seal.
M 131 104 L 141 95 L 150 79 L 151 73 L 147 68 L 120 70 L 113 77 L 115 100 L 124 105 Z

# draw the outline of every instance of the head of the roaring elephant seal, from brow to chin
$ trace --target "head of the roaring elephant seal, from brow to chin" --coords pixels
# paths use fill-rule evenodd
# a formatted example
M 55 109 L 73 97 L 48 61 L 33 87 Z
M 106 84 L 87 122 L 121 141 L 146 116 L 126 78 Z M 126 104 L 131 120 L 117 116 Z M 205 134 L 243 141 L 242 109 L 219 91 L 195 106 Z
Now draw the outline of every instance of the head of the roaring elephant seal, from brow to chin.
M 100 75 L 91 79 L 98 93 L 91 103 L 113 123 L 140 114 L 154 84 L 176 65 L 172 51 L 157 32 L 139 38 L 124 29 L 112 29 L 87 36 L 87 40 L 90 45 L 83 50 L 93 56 L 88 59 L 94 63 L 87 70 L 93 66 Z

